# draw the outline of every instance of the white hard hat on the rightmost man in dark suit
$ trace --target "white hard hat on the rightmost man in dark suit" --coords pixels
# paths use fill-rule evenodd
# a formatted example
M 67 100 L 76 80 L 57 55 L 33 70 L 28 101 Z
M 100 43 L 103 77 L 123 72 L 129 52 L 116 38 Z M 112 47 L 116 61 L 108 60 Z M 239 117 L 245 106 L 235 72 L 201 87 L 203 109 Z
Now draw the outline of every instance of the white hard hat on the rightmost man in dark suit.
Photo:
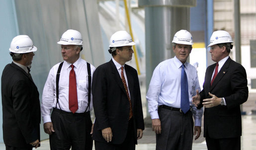
M 210 44 L 207 47 L 220 43 L 233 43 L 232 38 L 227 31 L 214 31 L 210 38 Z

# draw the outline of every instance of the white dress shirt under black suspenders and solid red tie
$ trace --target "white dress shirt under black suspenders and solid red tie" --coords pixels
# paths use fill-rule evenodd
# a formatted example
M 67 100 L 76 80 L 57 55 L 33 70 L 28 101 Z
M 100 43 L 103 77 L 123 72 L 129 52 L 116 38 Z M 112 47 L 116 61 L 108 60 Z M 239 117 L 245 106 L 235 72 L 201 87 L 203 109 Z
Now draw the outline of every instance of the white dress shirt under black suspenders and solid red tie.
M 51 111 L 52 108 L 56 107 L 56 74 L 58 71 L 60 63 L 56 64 L 49 72 L 48 78 L 44 85 L 43 95 L 42 95 L 42 104 L 41 111 L 43 122 L 51 122 Z M 71 71 L 72 64 L 64 61 L 59 79 L 59 104 L 57 108 L 66 112 L 71 112 L 69 110 L 69 75 Z M 86 61 L 79 58 L 73 64 L 76 79 L 77 79 L 77 93 L 78 93 L 78 110 L 76 113 L 83 113 L 88 106 L 88 73 Z M 95 67 L 90 65 L 91 76 L 95 70 Z M 92 94 L 90 96 L 90 110 L 93 109 L 92 106 Z

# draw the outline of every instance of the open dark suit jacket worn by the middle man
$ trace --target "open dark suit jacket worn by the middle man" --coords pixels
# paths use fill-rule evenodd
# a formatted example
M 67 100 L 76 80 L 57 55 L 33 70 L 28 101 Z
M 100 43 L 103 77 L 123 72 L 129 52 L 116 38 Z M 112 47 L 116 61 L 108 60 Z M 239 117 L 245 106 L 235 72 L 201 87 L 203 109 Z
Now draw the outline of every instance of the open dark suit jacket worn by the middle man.
M 139 79 L 134 68 L 128 65 L 125 65 L 124 68 L 132 103 L 134 129 L 136 129 L 134 137 L 137 139 L 137 129 L 144 130 Z M 128 128 L 129 101 L 122 79 L 112 60 L 100 65 L 94 71 L 92 98 L 96 118 L 93 140 L 106 142 L 102 137 L 101 130 L 110 127 L 113 134 L 111 143 L 122 144 Z

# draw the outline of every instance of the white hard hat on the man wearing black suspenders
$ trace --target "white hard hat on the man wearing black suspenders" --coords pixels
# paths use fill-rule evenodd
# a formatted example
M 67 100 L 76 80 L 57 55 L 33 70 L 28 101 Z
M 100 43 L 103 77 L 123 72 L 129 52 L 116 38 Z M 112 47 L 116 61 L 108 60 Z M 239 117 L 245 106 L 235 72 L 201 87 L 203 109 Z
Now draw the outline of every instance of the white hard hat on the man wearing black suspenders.
M 57 42 L 61 45 L 83 45 L 82 34 L 77 30 L 69 29 L 61 36 L 61 40 Z

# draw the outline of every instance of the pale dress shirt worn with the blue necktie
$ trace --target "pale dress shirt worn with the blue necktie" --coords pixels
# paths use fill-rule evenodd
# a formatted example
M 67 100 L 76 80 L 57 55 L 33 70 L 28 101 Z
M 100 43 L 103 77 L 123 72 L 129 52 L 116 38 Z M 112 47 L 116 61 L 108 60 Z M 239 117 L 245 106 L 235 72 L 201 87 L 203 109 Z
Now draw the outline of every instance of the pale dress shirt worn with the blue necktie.
M 158 119 L 158 106 L 167 105 L 180 108 L 180 82 L 182 63 L 176 58 L 160 63 L 152 75 L 147 100 L 151 119 Z M 195 126 L 201 126 L 203 108 L 197 110 L 192 104 L 192 96 L 196 95 L 196 89 L 201 91 L 196 69 L 189 63 L 185 63 L 185 72 L 188 80 L 188 95 L 190 107 L 195 120 Z

